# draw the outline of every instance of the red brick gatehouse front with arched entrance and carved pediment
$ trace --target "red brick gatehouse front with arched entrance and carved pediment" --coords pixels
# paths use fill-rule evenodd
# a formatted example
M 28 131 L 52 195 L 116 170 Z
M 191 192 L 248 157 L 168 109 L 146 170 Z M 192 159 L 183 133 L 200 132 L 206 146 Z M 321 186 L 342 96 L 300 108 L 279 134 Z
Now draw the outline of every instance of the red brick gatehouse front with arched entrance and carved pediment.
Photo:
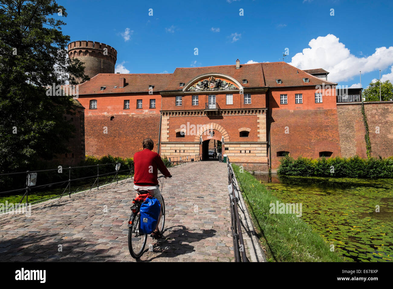
M 187 68 L 181 70 L 174 73 L 171 90 L 161 92 L 160 154 L 206 159 L 208 150 L 222 149 L 233 163 L 265 170 L 267 88 L 241 85 L 249 78 L 242 66 L 239 70 L 223 66 L 226 73 L 209 72 L 206 67 L 195 77 Z

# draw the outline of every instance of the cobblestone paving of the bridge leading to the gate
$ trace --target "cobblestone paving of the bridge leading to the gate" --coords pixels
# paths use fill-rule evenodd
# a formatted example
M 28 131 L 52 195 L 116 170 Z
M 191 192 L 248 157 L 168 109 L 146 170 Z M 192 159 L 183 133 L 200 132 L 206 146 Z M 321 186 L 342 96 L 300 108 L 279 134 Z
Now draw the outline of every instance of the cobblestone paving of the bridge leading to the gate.
M 164 238 L 148 237 L 140 261 L 233 261 L 226 164 L 169 171 Z M 31 216 L 0 215 L 0 261 L 135 261 L 127 227 L 134 197 L 128 181 L 33 206 Z

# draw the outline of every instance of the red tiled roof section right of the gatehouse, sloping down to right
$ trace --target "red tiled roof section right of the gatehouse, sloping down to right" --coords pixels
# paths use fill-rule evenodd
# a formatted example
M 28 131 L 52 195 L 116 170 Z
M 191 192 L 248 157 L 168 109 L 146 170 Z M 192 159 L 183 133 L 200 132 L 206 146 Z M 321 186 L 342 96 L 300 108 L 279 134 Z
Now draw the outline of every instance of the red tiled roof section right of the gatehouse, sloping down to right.
M 322 85 L 323 83 L 336 85 L 337 83 L 326 81 L 315 77 L 304 70 L 296 68 L 286 62 L 267 62 L 262 63 L 263 75 L 266 86 L 268 87 L 293 87 L 305 85 Z M 305 83 L 303 78 L 308 78 L 309 82 Z M 277 84 L 276 79 L 281 79 L 282 83 Z

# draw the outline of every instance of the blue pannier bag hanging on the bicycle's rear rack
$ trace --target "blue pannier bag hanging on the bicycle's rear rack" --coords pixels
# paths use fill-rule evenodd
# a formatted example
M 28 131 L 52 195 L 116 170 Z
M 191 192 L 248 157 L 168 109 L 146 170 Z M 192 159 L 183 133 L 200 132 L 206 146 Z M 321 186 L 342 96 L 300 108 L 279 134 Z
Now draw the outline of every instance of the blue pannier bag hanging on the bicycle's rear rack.
M 146 198 L 141 204 L 140 214 L 140 233 L 151 234 L 157 226 L 160 217 L 161 204 L 156 198 Z

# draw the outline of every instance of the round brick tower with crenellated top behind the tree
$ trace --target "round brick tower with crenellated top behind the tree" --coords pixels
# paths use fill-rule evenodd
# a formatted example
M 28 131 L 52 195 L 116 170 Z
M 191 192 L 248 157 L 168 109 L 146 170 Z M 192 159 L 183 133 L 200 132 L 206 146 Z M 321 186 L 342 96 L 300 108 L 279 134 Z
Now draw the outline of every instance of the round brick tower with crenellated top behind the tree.
M 115 73 L 118 52 L 113 47 L 93 41 L 74 41 L 68 44 L 68 57 L 84 63 L 84 74 L 90 79 L 99 73 Z M 81 79 L 77 79 L 81 83 Z

